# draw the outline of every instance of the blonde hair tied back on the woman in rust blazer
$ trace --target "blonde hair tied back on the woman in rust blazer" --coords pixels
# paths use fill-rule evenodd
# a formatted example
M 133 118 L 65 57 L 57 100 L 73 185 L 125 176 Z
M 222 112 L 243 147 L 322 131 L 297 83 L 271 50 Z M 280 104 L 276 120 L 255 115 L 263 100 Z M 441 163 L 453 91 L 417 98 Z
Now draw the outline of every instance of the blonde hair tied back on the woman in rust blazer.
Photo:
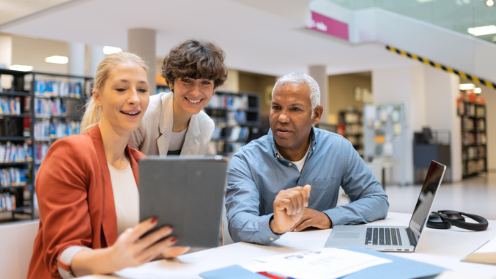
M 95 90 L 99 90 L 101 95 L 103 93 L 105 82 L 109 78 L 110 71 L 114 68 L 114 66 L 125 62 L 136 63 L 137 65 L 143 67 L 148 75 L 148 67 L 146 67 L 145 62 L 139 56 L 128 52 L 114 53 L 106 56 L 98 65 L 93 84 L 93 93 Z M 93 97 L 90 97 L 90 99 L 86 102 L 86 109 L 84 111 L 83 118 L 81 119 L 81 133 L 85 130 L 89 130 L 91 127 L 95 126 L 95 124 L 100 122 L 100 112 L 101 108 L 97 106 Z

